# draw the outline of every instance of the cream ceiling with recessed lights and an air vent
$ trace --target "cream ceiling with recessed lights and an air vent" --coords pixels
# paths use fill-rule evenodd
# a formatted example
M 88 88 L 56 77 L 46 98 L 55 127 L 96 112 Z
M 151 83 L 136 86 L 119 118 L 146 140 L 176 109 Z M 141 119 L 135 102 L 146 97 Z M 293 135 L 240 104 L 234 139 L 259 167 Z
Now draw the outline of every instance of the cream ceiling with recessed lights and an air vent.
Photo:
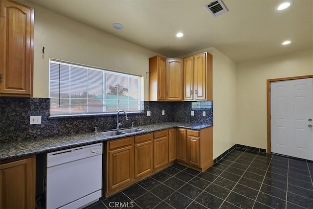
M 28 1 L 166 57 L 213 46 L 238 63 L 313 46 L 313 0 L 282 11 L 275 7 L 284 0 L 223 0 L 229 11 L 215 18 L 204 7 L 212 0 Z

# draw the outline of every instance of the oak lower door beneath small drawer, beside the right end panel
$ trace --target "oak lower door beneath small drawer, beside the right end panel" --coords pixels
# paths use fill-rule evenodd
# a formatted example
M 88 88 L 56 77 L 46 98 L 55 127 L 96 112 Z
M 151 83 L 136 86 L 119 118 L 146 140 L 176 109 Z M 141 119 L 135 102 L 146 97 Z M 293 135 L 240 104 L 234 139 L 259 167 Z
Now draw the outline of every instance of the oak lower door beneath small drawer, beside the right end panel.
M 188 163 L 200 166 L 200 138 L 188 136 L 187 149 L 188 149 Z

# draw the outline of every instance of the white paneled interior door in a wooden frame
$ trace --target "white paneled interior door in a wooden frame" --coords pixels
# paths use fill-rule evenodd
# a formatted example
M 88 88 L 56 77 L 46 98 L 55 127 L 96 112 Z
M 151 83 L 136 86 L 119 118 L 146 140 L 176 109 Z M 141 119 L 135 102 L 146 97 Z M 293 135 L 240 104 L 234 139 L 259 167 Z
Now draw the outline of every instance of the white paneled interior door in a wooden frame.
M 313 160 L 313 78 L 270 83 L 271 152 Z

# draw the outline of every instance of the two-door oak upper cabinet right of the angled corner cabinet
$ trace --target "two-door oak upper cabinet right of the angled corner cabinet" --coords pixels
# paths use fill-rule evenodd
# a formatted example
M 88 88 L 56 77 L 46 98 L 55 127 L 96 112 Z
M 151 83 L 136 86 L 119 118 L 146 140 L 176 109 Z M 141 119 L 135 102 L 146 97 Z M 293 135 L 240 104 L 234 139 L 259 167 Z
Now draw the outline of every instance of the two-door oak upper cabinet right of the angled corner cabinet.
M 184 101 L 212 101 L 212 55 L 208 52 L 183 59 Z

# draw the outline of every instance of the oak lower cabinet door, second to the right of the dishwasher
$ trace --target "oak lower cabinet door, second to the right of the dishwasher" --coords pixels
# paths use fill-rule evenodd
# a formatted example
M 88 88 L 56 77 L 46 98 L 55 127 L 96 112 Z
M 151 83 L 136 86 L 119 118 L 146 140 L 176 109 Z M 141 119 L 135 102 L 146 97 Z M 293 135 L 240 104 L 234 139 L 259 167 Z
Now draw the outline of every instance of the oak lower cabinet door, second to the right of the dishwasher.
M 135 178 L 152 171 L 153 168 L 152 140 L 137 143 L 134 146 Z

